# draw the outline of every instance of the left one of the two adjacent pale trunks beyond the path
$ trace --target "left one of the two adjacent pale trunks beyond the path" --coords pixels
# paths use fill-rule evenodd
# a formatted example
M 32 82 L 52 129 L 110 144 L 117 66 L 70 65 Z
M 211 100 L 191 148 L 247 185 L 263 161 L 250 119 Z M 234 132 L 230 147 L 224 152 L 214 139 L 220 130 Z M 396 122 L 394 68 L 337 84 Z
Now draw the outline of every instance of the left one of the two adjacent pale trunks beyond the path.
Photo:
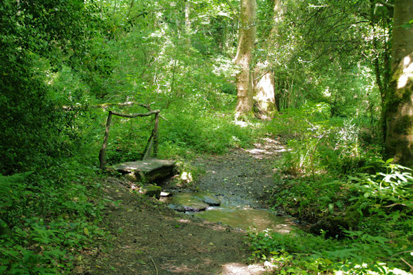
M 253 74 L 250 70 L 255 43 L 255 18 L 257 1 L 241 0 L 240 26 L 238 31 L 237 55 L 234 58 L 241 72 L 237 74 L 237 114 L 252 114 L 253 112 Z

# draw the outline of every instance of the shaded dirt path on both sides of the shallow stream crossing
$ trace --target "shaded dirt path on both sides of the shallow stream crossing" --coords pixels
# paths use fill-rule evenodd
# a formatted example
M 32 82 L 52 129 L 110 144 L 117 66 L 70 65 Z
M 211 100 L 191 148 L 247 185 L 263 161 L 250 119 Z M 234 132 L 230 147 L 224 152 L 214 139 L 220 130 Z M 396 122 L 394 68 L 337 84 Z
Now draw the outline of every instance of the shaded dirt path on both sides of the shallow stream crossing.
M 284 148 L 265 139 L 252 150 L 232 150 L 207 156 L 193 165 L 205 170 L 199 190 L 262 207 L 262 194 L 272 183 L 273 161 Z M 262 265 L 247 265 L 245 232 L 169 210 L 162 203 L 145 203 L 131 194 L 126 181 L 107 179 L 107 197 L 119 200 L 107 214 L 113 249 L 85 251 L 78 274 L 265 274 Z

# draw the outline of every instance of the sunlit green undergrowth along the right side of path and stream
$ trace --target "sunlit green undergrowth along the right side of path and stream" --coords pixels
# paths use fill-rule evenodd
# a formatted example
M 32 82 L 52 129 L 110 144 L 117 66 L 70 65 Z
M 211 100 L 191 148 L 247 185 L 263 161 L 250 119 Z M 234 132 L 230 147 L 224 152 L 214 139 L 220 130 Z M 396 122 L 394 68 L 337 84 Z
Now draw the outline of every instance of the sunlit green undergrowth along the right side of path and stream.
M 289 137 L 268 203 L 313 234 L 249 232 L 252 259 L 275 274 L 410 274 L 412 170 L 381 160 L 363 119 L 329 118 L 328 105 L 313 104 L 266 127 Z

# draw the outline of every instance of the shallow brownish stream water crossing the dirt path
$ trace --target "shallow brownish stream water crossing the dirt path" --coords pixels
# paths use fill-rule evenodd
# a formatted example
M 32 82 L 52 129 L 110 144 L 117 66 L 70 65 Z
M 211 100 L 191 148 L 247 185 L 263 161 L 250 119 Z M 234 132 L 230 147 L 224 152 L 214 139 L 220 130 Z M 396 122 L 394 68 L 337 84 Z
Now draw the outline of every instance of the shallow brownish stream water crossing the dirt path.
M 184 203 L 190 201 L 193 203 L 197 200 L 197 193 L 182 192 L 169 198 L 169 203 Z M 293 230 L 294 223 L 288 216 L 278 216 L 268 212 L 268 210 L 254 209 L 248 205 L 248 202 L 225 201 L 222 196 L 218 196 L 221 201 L 220 206 L 210 206 L 207 210 L 200 212 L 187 212 L 194 216 L 199 216 L 207 221 L 223 223 L 231 227 L 248 230 L 256 228 L 257 230 L 271 229 L 279 233 L 288 233 Z

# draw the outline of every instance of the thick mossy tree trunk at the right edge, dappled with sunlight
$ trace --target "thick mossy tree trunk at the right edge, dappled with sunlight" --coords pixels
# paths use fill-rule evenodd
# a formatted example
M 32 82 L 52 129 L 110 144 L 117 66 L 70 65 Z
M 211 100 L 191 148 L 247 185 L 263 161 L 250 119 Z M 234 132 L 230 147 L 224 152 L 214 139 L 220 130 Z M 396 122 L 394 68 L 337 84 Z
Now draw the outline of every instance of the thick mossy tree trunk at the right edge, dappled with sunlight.
M 386 96 L 385 152 L 402 165 L 413 164 L 413 1 L 394 4 L 392 79 Z

